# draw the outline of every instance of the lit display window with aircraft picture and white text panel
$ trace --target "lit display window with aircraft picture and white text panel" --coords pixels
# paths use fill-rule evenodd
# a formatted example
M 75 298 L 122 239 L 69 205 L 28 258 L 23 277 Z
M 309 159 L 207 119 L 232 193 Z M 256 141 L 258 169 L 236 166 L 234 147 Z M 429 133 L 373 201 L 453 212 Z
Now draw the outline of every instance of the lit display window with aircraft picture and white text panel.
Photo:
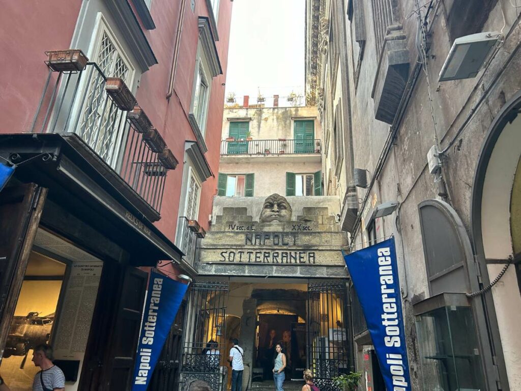
M 103 262 L 39 228 L 17 296 L 0 372 L 12 390 L 31 391 L 40 344 L 54 348 L 68 390 L 77 389 Z

